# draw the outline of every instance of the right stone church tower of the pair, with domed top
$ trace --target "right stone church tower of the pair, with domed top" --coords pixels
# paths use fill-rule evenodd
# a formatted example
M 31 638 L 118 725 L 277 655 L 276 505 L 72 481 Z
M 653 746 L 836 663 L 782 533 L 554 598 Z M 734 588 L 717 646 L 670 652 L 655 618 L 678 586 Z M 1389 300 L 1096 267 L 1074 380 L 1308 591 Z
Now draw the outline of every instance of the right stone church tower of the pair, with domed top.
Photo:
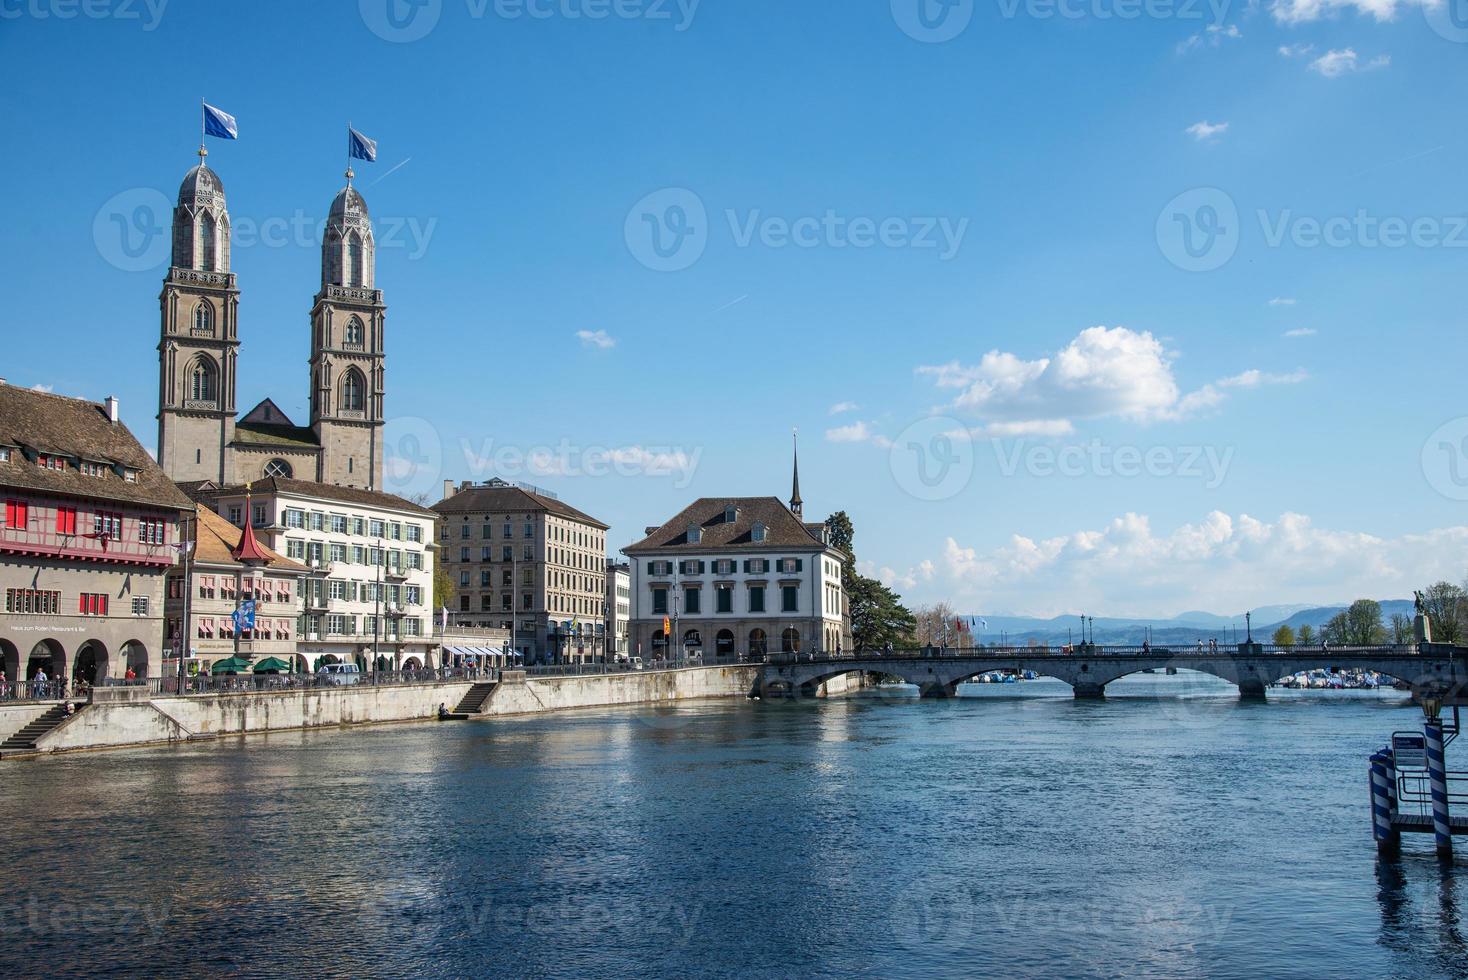
M 346 186 L 332 201 L 321 242 L 321 290 L 311 307 L 311 428 L 317 480 L 382 489 L 383 326 L 367 202 Z

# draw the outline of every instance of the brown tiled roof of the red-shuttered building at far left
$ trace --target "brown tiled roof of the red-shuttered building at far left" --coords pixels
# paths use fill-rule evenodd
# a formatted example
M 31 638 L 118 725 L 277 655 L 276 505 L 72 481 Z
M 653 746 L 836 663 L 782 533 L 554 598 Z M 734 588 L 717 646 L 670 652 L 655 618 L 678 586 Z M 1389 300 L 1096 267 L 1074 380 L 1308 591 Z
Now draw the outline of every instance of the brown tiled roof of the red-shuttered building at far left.
M 9 462 L 0 462 L 0 486 L 169 511 L 194 509 L 128 427 L 110 421 L 107 408 L 97 402 L 0 384 L 0 446 L 31 450 L 32 456 L 12 452 Z M 37 450 L 68 456 L 66 469 L 35 465 Z M 82 474 L 78 459 L 135 469 L 137 480 L 128 483 L 113 469 L 100 477 Z

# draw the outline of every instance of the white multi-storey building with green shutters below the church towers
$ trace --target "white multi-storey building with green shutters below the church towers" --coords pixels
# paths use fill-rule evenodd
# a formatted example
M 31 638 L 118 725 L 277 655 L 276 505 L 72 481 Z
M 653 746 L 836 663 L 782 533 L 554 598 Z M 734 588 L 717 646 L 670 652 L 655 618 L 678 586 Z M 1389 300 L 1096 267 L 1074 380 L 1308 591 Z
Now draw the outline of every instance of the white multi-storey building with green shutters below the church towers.
M 248 496 L 248 519 L 261 541 L 305 566 L 295 651 L 308 669 L 338 662 L 380 670 L 439 666 L 433 511 L 388 493 L 304 480 L 185 489 L 236 528 L 245 524 Z

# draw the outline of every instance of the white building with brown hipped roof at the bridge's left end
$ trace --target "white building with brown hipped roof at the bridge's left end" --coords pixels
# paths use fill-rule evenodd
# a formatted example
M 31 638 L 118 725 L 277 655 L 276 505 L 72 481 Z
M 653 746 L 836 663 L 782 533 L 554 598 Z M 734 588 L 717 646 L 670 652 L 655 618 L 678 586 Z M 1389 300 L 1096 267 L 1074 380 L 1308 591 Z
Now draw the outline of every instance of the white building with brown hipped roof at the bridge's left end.
M 851 650 L 849 557 L 777 497 L 703 497 L 624 550 L 631 654 L 728 660 Z

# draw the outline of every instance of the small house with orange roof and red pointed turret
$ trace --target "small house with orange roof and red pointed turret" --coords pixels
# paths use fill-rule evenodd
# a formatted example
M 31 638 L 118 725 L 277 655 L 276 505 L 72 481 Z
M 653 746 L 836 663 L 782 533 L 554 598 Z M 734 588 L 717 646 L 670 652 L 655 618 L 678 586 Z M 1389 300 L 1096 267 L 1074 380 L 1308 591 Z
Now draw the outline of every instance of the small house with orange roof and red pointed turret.
M 252 665 L 273 657 L 297 672 L 310 669 L 297 653 L 307 568 L 247 543 L 247 534 L 254 538 L 254 527 L 238 528 L 208 508 L 198 508 L 189 522 L 186 559 L 167 574 L 164 676 L 176 676 L 179 653 L 203 672 L 229 657 Z M 245 603 L 254 626 L 235 629 L 233 613 Z

